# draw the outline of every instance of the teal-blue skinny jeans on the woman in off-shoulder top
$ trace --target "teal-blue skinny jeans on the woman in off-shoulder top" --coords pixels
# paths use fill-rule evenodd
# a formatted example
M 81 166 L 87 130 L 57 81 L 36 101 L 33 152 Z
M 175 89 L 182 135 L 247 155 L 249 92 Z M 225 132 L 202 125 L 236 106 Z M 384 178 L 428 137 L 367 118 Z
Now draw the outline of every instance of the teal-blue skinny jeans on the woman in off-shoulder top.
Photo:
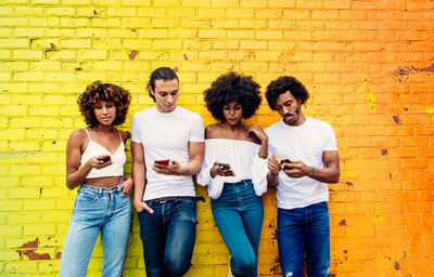
M 221 196 L 210 200 L 214 221 L 231 254 L 235 276 L 257 276 L 257 253 L 264 208 L 251 180 L 225 183 Z

